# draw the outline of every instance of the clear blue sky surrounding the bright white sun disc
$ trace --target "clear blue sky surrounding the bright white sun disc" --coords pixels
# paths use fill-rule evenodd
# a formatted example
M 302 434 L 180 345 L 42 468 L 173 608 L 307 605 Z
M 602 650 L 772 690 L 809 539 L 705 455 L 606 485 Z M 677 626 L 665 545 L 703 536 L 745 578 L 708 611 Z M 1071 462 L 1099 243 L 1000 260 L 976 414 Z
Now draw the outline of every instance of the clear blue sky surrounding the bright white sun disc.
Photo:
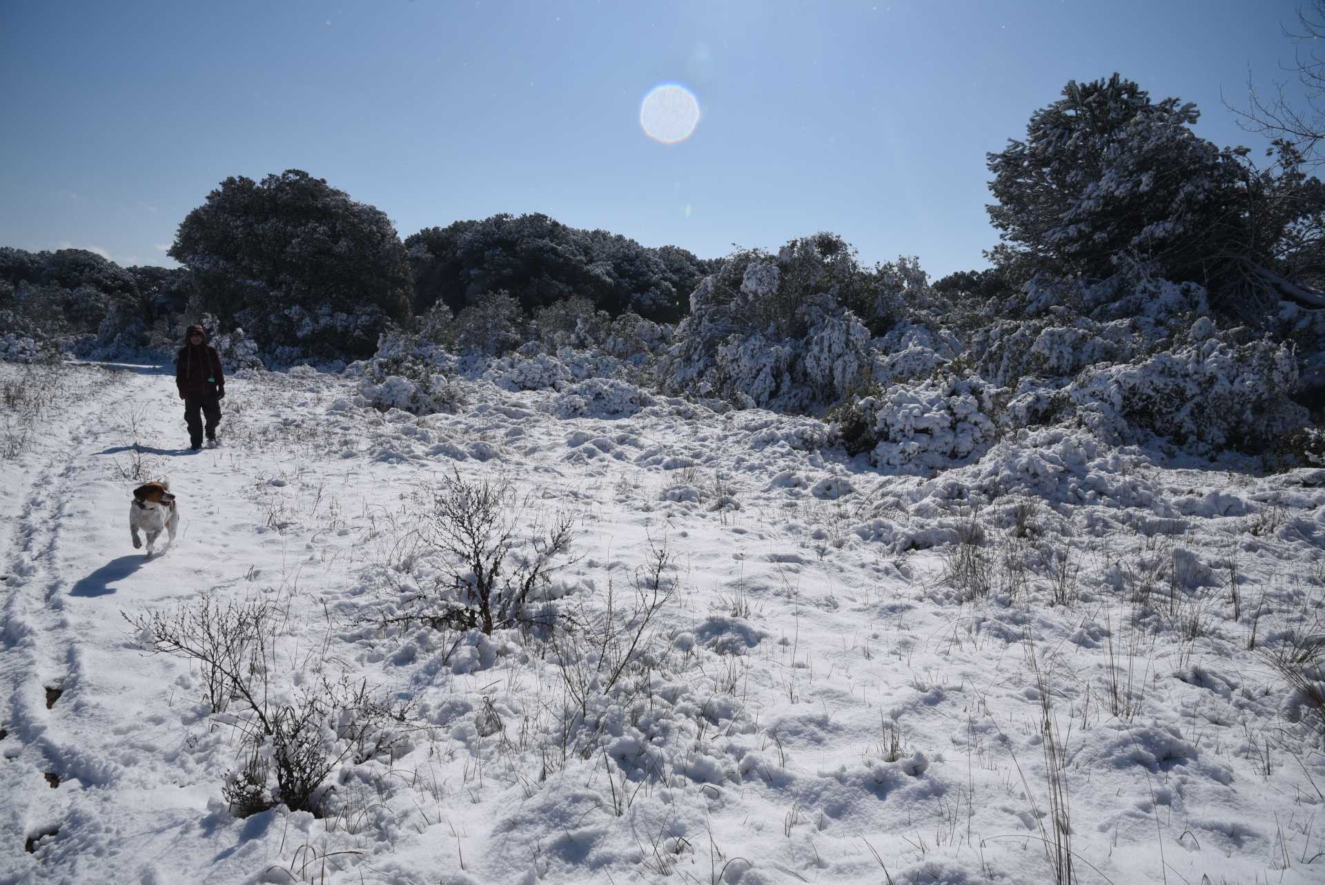
M 867 262 L 983 266 L 984 154 L 1117 70 L 1257 144 L 1291 0 L 0 0 L 0 245 L 171 264 L 228 175 L 302 168 L 401 237 L 545 212 L 701 257 L 835 231 Z M 640 129 L 653 86 L 694 134 Z M 1220 93 L 1223 90 L 1223 93 Z

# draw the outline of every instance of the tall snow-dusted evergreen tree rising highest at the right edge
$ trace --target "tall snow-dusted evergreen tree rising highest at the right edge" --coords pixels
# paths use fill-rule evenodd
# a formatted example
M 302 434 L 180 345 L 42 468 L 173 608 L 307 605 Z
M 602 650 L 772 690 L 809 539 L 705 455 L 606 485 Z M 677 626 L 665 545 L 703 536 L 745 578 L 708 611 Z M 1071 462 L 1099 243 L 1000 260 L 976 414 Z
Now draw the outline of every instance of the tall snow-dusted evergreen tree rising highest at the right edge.
M 988 155 L 995 265 L 1019 281 L 1143 269 L 1200 282 L 1216 305 L 1252 315 L 1283 295 L 1325 305 L 1283 273 L 1287 256 L 1318 240 L 1325 188 L 1291 146 L 1259 170 L 1247 148 L 1192 132 L 1198 117 L 1118 74 L 1069 81 L 1031 115 L 1024 142 Z

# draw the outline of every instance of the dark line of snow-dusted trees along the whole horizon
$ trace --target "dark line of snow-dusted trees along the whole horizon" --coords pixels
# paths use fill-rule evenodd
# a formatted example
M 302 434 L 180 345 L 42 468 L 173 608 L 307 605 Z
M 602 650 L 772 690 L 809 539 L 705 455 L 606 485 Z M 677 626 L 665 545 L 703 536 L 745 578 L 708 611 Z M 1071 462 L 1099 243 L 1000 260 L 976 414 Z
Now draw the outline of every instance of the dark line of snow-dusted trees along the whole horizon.
M 750 289 L 758 295 L 741 305 L 741 321 L 763 318 L 774 338 L 804 334 L 814 321 L 802 302 L 828 295 L 877 337 L 908 293 L 959 303 L 1034 280 L 1112 280 L 1120 298 L 1140 278 L 1195 282 L 1219 318 L 1252 327 L 1268 329 L 1283 299 L 1322 307 L 1318 142 L 1275 130 L 1265 106 L 1259 111 L 1248 119 L 1275 138 L 1253 156 L 1198 136 L 1190 102 L 1153 101 L 1118 74 L 1071 81 L 1031 114 L 1024 138 L 986 158 L 1000 240 L 986 252 L 988 268 L 929 286 L 918 265 L 864 266 L 840 237 L 816 234 L 787 246 L 808 249 L 815 262 L 783 262 L 808 276 Z M 529 318 L 574 298 L 613 318 L 676 323 L 705 281 L 706 305 L 730 301 L 723 290 L 734 293 L 738 270 L 763 253 L 705 260 L 537 213 L 401 240 L 380 209 L 288 170 L 221 182 L 180 223 L 168 254 L 180 269 L 122 269 L 74 249 L 0 249 L 0 327 L 146 346 L 172 319 L 205 311 L 225 329 L 241 326 L 266 354 L 354 359 L 372 354 L 388 327 L 441 314 L 445 322 L 498 294 Z M 721 335 L 725 326 L 708 329 Z

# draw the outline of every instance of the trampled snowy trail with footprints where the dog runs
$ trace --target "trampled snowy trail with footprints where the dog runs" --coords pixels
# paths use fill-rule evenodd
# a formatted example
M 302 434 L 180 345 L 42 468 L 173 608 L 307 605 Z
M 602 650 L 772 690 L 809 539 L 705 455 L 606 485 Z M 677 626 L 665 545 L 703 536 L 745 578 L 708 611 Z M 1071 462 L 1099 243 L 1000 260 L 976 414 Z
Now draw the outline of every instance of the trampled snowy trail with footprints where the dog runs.
M 208 480 L 227 472 L 228 456 L 188 452 L 174 384 L 155 371 L 97 372 L 73 404 L 73 420 L 48 424 L 44 462 L 17 490 L 23 503 L 7 533 L 0 692 L 16 739 L 4 743 L 0 766 L 5 882 L 36 874 L 32 840 L 61 827 L 44 874 L 60 872 L 40 881 L 90 881 L 80 870 L 93 862 L 98 877 L 114 872 L 102 881 L 138 881 L 152 869 L 152 849 L 166 855 L 175 841 L 144 843 L 142 828 L 168 821 L 187 832 L 215 792 L 162 770 L 186 739 L 154 711 L 163 672 L 179 665 L 134 649 L 121 611 L 238 576 L 220 535 L 207 531 L 223 513 Z M 188 486 L 176 543 L 166 547 L 163 534 L 152 558 L 129 539 L 135 462 Z

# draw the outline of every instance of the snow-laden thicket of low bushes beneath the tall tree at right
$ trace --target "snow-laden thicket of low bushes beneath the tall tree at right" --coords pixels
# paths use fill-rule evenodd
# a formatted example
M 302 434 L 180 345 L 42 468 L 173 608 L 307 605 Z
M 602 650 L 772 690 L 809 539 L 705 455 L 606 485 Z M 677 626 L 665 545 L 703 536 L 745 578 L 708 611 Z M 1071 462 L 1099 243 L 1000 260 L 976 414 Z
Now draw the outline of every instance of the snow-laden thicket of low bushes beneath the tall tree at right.
M 970 372 L 970 399 L 946 390 L 939 408 L 933 380 L 893 383 L 914 376 L 905 367 L 921 375 L 942 359 L 930 347 L 909 354 L 904 340 L 889 340 L 892 352 L 874 355 L 873 395 L 833 416 L 848 450 L 871 450 L 881 466 L 935 469 L 978 453 L 992 441 L 995 423 L 1016 429 L 1061 421 L 1084 424 L 1112 444 L 1157 436 L 1200 453 L 1273 449 L 1289 464 L 1313 450 L 1302 436 L 1284 452 L 1283 441 L 1306 419 L 1289 399 L 1297 387 L 1292 350 L 1248 340 L 1247 330 L 1219 330 L 1195 284 L 1134 280 L 1121 291 L 1117 280 L 1040 280 L 1007 302 L 1000 313 L 1008 319 L 977 330 L 970 350 L 947 363 Z M 975 388 L 986 395 L 978 408 Z M 996 420 L 987 408 L 995 388 Z M 963 421 L 966 436 L 934 431 Z

